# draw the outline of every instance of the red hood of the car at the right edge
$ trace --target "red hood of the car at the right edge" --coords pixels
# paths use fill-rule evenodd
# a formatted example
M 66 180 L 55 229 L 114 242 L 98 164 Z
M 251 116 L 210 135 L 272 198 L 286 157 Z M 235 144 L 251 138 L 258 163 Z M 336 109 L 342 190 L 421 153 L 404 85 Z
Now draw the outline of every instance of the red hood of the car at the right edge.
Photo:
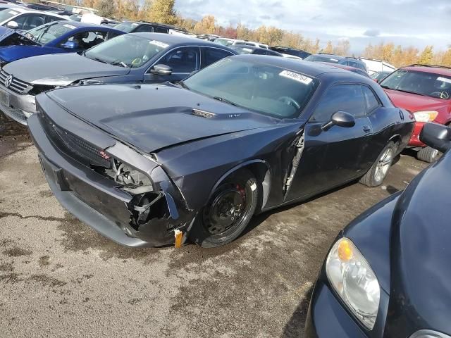
M 416 111 L 440 111 L 449 105 L 449 100 L 435 99 L 429 96 L 421 96 L 416 94 L 404 93 L 398 90 L 383 89 L 390 97 L 393 104 L 399 108 L 407 109 L 412 113 Z

